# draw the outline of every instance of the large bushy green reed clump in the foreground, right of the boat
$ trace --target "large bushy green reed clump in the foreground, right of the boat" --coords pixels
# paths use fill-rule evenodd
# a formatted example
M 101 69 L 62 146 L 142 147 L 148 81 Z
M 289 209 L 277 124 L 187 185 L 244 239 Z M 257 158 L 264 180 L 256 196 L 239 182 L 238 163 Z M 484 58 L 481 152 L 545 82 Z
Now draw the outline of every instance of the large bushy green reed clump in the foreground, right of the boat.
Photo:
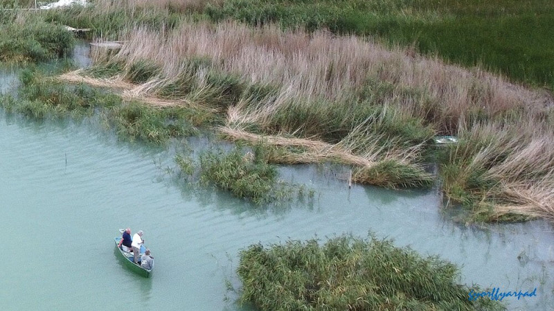
M 240 301 L 260 310 L 502 310 L 470 301 L 458 268 L 389 240 L 339 236 L 240 251 Z

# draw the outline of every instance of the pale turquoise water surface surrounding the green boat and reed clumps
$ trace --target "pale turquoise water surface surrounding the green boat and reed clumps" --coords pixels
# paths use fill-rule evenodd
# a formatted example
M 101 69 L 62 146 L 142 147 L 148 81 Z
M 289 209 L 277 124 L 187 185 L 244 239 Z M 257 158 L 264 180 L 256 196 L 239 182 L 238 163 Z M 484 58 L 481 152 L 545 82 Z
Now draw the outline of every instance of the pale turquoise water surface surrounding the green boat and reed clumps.
M 0 87 L 12 81 L 0 73 Z M 193 149 L 202 140 L 190 141 Z M 171 152 L 118 141 L 100 127 L 34 122 L 0 112 L 0 301 L 6 310 L 247 310 L 234 302 L 238 251 L 352 233 L 394 238 L 461 266 L 461 281 L 537 296 L 509 310 L 554 305 L 553 226 L 536 221 L 478 229 L 440 212 L 436 190 L 348 186 L 319 166 L 282 168 L 316 190 L 313 202 L 253 208 L 172 174 Z M 145 231 L 155 268 L 129 272 L 114 254 L 117 229 Z M 518 259 L 519 256 L 519 259 Z

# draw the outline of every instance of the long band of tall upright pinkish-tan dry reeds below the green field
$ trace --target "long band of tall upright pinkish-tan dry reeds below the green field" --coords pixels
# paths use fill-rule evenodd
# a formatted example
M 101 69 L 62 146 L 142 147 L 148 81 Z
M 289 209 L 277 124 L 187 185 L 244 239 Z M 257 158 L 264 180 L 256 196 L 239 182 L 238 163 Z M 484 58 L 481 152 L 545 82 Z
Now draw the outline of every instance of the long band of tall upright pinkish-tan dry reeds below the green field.
M 326 98 L 348 102 L 368 79 L 390 82 L 391 96 L 402 109 L 417 112 L 417 101 L 402 97 L 404 89 L 418 89 L 438 103 L 440 115 L 457 125 L 467 111 L 483 109 L 495 116 L 508 109 L 539 109 L 551 100 L 544 94 L 512 85 L 480 69 L 467 71 L 438 59 L 411 57 L 405 49 L 386 49 L 368 39 L 340 37 L 325 31 L 312 35 L 283 31 L 276 26 L 252 29 L 227 22 L 184 22 L 172 33 L 135 28 L 123 39 L 118 53 L 129 64 L 157 60 L 166 76 L 179 73 L 188 57 L 208 57 L 217 69 L 236 73 L 253 83 L 278 85 L 289 98 Z

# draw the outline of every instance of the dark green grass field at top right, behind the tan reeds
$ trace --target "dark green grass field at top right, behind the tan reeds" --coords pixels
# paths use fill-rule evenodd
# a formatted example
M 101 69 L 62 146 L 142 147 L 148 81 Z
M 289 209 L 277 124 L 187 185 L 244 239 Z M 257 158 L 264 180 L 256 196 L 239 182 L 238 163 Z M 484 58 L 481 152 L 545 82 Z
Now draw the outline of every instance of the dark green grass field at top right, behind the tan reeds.
M 512 80 L 554 87 L 554 3 L 545 0 L 269 1 L 208 6 L 214 21 L 253 26 L 329 28 L 377 36 L 463 66 L 481 65 Z

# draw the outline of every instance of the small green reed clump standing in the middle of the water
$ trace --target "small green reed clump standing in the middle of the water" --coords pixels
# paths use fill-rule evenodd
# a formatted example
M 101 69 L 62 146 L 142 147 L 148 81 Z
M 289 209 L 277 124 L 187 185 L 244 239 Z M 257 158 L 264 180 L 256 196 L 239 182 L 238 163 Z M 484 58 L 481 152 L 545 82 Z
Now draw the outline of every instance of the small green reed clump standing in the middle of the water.
M 314 197 L 314 190 L 278 179 L 277 168 L 265 161 L 263 153 L 260 146 L 253 151 L 239 146 L 230 151 L 206 150 L 198 161 L 181 154 L 176 161 L 184 174 L 198 174 L 202 183 L 214 184 L 257 205 L 287 201 L 294 195 L 299 199 Z

